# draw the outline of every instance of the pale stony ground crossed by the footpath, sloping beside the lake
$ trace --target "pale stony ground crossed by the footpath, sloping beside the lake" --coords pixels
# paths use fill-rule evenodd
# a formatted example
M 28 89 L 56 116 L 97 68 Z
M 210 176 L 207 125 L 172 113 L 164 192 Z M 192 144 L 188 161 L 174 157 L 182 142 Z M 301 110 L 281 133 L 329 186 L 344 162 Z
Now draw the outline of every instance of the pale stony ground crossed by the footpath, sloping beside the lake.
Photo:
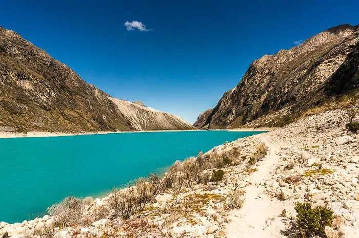
M 328 111 L 217 146 L 207 154 L 238 152 L 235 165 L 223 168 L 222 181 L 159 194 L 128 220 L 95 217 L 106 208 L 113 196 L 109 194 L 86 205 L 92 216 L 88 225 L 56 228 L 52 236 L 33 235 L 37 227 L 53 223 L 46 215 L 23 223 L 2 222 L 0 235 L 290 238 L 298 237 L 294 204 L 309 201 L 333 210 L 328 237 L 359 237 L 359 136 L 345 129 L 348 121 L 347 111 Z M 250 166 L 261 143 L 268 153 Z

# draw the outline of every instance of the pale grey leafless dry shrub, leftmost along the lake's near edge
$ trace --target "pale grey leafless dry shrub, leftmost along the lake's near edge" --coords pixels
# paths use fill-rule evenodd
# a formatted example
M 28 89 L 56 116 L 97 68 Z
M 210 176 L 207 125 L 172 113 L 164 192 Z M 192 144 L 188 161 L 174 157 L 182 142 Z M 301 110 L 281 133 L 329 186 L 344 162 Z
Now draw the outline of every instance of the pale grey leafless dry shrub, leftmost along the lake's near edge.
M 56 227 L 67 227 L 81 224 L 85 206 L 81 199 L 66 197 L 61 202 L 51 205 L 47 212 L 55 220 Z

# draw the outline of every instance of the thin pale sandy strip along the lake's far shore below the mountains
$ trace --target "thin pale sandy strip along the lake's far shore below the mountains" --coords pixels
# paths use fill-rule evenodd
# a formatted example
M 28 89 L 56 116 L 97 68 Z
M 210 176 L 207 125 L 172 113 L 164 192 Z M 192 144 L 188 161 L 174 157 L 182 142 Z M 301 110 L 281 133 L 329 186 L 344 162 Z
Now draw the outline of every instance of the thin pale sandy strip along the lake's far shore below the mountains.
M 155 132 L 206 132 L 206 131 L 227 131 L 227 132 L 269 132 L 274 128 L 234 128 L 234 129 L 188 129 L 188 130 L 154 130 L 154 131 L 129 131 L 129 132 L 80 132 L 80 133 L 63 133 L 63 132 L 28 132 L 26 135 L 18 132 L 0 131 L 0 139 L 9 138 L 36 138 L 36 137 L 58 137 L 58 136 L 85 136 L 85 135 L 106 135 L 117 133 L 155 133 Z

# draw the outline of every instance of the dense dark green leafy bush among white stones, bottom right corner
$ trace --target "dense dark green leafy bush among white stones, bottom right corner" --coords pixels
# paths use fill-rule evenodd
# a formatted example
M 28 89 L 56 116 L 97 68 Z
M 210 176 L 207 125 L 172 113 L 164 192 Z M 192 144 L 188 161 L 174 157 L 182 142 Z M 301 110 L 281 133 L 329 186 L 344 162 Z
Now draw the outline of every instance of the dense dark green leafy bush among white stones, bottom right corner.
M 295 211 L 296 224 L 301 232 L 308 237 L 318 235 L 326 237 L 324 233 L 325 226 L 331 226 L 333 223 L 333 211 L 325 206 L 316 206 L 312 208 L 310 203 L 296 203 Z

